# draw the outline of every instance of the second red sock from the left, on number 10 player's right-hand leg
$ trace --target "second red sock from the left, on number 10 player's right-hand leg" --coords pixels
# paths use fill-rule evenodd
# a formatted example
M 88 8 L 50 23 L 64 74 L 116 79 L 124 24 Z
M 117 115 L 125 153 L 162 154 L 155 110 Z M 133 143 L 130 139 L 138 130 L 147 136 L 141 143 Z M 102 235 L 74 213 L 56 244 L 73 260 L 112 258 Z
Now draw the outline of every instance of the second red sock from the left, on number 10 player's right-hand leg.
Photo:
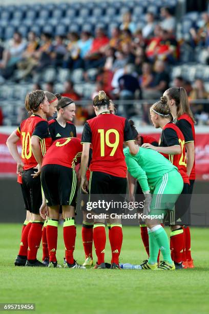
M 28 260 L 35 260 L 42 237 L 42 222 L 32 222 L 28 234 Z

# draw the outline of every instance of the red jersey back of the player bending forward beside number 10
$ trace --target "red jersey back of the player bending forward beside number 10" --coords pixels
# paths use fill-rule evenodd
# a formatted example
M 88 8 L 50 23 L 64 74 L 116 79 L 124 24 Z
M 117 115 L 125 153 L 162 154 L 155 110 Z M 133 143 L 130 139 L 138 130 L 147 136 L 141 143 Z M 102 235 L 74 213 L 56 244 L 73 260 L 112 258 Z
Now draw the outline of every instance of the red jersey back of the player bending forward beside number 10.
M 53 142 L 46 152 L 42 167 L 45 165 L 60 165 L 75 169 L 80 162 L 82 145 L 80 139 L 62 138 Z

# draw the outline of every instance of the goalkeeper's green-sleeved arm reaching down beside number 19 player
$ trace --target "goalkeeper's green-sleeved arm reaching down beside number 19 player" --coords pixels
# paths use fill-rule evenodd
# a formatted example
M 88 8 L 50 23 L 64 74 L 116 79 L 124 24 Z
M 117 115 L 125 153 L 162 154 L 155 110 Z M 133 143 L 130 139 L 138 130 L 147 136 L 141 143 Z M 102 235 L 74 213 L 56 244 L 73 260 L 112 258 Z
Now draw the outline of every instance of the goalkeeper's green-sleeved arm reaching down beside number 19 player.
M 143 193 L 149 192 L 148 177 L 146 172 L 139 166 L 139 164 L 131 156 L 126 156 L 126 164 L 129 173 L 138 180 Z

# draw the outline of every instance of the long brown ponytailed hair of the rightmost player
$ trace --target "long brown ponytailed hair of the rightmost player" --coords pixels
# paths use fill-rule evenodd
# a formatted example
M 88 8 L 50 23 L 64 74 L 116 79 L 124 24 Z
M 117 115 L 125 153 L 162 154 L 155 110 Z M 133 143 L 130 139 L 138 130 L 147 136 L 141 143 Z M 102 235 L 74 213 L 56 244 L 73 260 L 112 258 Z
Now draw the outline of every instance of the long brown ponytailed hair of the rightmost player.
M 190 109 L 187 93 L 183 87 L 171 87 L 165 91 L 166 96 L 169 100 L 173 99 L 177 107 L 177 118 L 182 114 L 188 114 L 192 121 L 195 123 L 193 113 Z

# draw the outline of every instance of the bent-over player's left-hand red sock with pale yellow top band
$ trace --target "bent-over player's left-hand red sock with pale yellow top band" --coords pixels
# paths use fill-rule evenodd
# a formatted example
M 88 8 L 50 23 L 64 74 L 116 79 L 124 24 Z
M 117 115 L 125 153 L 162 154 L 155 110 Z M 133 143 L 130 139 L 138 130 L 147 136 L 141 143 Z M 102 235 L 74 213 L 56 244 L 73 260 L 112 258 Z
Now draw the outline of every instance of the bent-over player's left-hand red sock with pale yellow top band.
M 49 261 L 56 262 L 56 249 L 57 249 L 57 227 L 58 220 L 49 219 L 47 222 L 47 243 L 49 249 Z

